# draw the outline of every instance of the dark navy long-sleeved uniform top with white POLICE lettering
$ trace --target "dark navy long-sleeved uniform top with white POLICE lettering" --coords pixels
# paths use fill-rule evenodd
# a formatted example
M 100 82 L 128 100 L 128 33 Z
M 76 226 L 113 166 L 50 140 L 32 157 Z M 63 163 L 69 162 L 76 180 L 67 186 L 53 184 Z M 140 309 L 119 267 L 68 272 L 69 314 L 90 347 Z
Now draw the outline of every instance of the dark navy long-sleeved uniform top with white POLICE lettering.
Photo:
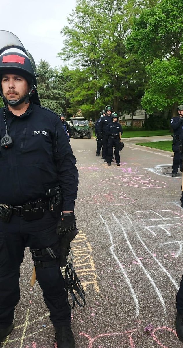
M 0 109 L 0 142 L 6 133 Z M 40 105 L 30 104 L 20 117 L 7 110 L 7 126 L 13 139 L 10 149 L 0 148 L 0 203 L 22 206 L 46 190 L 62 187 L 63 210 L 74 209 L 78 170 L 69 138 L 60 118 Z

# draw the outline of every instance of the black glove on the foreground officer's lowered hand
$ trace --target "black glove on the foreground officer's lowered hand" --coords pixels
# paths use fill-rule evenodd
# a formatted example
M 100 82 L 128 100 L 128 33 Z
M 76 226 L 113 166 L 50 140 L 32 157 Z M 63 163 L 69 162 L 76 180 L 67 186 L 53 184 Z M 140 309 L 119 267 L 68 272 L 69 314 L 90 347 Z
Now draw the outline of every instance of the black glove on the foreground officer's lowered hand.
M 63 235 L 71 232 L 76 228 L 76 216 L 74 212 L 71 213 L 63 213 L 57 226 L 56 226 L 56 234 Z

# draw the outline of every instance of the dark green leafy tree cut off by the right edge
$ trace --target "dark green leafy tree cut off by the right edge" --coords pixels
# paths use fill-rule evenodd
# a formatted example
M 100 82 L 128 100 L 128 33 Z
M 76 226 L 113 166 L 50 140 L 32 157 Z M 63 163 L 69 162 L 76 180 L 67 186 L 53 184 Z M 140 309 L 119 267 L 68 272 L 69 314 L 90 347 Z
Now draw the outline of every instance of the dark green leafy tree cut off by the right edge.
M 162 0 L 134 20 L 127 48 L 147 64 L 148 84 L 142 105 L 147 112 L 172 109 L 182 103 L 182 0 Z

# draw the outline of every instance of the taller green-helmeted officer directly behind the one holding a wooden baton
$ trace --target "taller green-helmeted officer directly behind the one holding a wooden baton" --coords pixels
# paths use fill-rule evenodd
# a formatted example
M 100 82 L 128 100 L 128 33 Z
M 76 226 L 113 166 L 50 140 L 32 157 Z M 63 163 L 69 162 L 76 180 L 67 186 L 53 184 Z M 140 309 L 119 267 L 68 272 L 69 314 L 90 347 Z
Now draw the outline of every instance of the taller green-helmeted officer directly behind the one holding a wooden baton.
M 106 134 L 107 126 L 111 122 L 111 114 L 113 107 L 111 105 L 105 106 L 105 116 L 101 117 L 98 122 L 98 139 L 103 140 L 103 157 L 104 162 L 107 162 L 107 141 L 108 135 Z M 112 160 L 113 162 L 113 160 Z

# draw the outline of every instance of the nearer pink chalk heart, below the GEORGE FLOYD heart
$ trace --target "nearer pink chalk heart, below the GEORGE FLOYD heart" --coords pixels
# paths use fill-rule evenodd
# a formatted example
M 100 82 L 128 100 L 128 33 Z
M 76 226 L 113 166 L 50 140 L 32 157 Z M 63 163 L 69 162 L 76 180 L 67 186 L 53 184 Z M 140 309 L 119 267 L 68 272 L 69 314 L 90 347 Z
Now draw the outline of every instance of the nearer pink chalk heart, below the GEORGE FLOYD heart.
M 134 203 L 134 199 L 126 198 L 126 193 L 118 191 L 110 191 L 107 193 L 100 193 L 99 195 L 79 199 L 82 202 L 105 204 L 105 205 L 126 205 Z

